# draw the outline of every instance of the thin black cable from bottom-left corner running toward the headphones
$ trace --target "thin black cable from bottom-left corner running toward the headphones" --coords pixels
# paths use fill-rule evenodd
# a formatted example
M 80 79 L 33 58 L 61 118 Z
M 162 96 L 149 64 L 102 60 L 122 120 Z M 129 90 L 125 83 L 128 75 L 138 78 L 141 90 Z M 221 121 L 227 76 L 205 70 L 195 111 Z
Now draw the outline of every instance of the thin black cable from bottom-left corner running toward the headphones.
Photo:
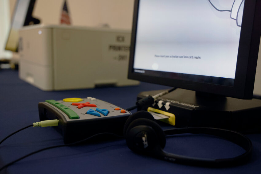
M 12 164 L 14 164 L 15 162 L 20 161 L 20 160 L 22 160 L 22 159 L 24 159 L 24 158 L 26 158 L 26 157 L 29 157 L 29 156 L 31 156 L 31 155 L 33 155 L 33 154 L 35 154 L 35 153 L 38 153 L 38 152 L 41 152 L 41 151 L 44 151 L 44 150 L 47 150 L 47 149 L 53 149 L 53 148 L 56 148 L 56 147 L 72 146 L 72 145 L 80 144 L 80 143 L 82 143 L 82 142 L 84 142 L 84 141 L 87 141 L 87 140 L 93 138 L 93 137 L 96 137 L 96 136 L 98 136 L 98 135 L 103 135 L 103 134 L 109 134 L 109 135 L 113 135 L 113 136 L 116 136 L 116 137 L 119 137 L 119 138 L 123 137 L 123 136 L 119 136 L 119 135 L 117 135 L 117 134 L 115 134 L 115 133 L 103 132 L 103 133 L 97 133 L 97 134 L 95 134 L 95 135 L 92 135 L 91 137 L 88 137 L 88 138 L 85 138 L 85 139 L 83 139 L 83 140 L 76 141 L 76 142 L 73 142 L 73 143 L 68 143 L 68 144 L 64 144 L 64 145 L 54 145 L 54 146 L 46 147 L 46 148 L 43 148 L 43 149 L 34 151 L 34 152 L 32 152 L 32 153 L 29 153 L 29 154 L 27 154 L 27 155 L 25 155 L 25 156 L 23 156 L 23 157 L 21 157 L 21 158 L 18 158 L 17 160 L 14 160 L 14 161 L 12 161 L 12 162 L 10 162 L 10 163 L 4 165 L 2 168 L 0 168 L 0 172 L 1 172 L 1 170 L 3 170 L 4 168 L 6 168 L 6 167 L 8 167 L 8 166 L 10 166 L 10 165 L 12 165 Z

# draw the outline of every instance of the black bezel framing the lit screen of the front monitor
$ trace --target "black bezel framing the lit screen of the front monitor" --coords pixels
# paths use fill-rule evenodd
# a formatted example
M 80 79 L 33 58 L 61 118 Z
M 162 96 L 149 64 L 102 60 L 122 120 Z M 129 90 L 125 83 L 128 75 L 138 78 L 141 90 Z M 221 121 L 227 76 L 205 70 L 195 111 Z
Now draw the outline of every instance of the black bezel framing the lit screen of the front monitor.
M 139 0 L 134 2 L 128 78 L 239 99 L 252 99 L 261 33 L 261 2 L 245 0 L 234 86 L 170 79 L 134 72 Z M 245 57 L 248 57 L 246 59 Z

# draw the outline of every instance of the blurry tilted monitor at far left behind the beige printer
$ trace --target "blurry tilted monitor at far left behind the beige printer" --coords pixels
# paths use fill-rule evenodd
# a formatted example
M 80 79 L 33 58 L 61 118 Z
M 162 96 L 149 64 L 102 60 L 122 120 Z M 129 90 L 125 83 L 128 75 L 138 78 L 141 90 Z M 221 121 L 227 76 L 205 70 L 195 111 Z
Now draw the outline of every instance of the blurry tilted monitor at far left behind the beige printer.
M 18 51 L 19 34 L 21 27 L 31 24 L 39 24 L 40 20 L 33 18 L 33 7 L 36 0 L 17 0 L 13 13 L 9 36 L 6 41 L 6 50 Z

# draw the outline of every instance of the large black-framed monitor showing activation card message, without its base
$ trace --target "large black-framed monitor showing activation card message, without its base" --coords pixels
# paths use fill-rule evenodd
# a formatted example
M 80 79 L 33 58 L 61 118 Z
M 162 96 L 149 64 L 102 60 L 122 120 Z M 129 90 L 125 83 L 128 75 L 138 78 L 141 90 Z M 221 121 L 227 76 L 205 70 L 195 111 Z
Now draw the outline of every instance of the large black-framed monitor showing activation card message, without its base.
M 259 0 L 135 0 L 129 79 L 251 99 Z

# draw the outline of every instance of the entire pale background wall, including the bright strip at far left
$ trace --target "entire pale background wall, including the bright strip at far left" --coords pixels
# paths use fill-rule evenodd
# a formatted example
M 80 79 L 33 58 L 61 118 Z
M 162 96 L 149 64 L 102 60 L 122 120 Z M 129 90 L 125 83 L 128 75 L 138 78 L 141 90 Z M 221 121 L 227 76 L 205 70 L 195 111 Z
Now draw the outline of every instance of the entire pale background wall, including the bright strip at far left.
M 5 51 L 4 46 L 10 29 L 11 16 L 16 0 L 0 0 L 0 58 L 18 55 Z M 42 24 L 60 24 L 64 0 L 37 0 L 33 16 Z M 10 6 L 10 8 L 8 8 Z M 108 24 L 111 28 L 131 29 L 134 0 L 67 0 L 72 25 L 100 26 Z M 5 34 L 4 34 L 5 33 Z

